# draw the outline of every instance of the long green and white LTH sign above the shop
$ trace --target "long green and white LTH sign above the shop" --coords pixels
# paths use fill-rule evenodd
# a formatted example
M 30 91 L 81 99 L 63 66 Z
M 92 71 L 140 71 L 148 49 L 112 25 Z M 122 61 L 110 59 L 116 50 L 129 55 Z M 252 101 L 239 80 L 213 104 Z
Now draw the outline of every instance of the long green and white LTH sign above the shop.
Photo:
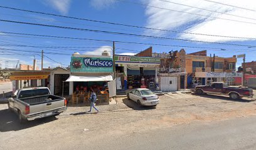
M 160 63 L 160 58 L 136 57 L 136 56 L 115 56 L 116 62 L 126 63 Z

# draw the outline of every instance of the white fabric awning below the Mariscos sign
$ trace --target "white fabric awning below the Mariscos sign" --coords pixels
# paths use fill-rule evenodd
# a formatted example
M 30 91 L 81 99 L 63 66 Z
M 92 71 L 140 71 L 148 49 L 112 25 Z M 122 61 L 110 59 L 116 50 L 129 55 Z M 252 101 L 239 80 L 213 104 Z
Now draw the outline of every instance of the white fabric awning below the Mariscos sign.
M 112 76 L 95 76 L 95 77 L 85 77 L 85 76 L 70 76 L 67 82 L 88 82 L 88 81 L 113 81 Z

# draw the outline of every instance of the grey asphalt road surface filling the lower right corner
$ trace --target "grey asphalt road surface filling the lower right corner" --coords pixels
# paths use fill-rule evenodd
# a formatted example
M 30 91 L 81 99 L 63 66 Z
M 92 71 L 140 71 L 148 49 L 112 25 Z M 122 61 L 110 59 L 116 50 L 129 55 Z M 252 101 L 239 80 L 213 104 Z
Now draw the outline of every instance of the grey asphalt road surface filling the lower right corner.
M 105 138 L 77 149 L 256 149 L 256 117 L 208 124 L 187 124 L 169 129 L 135 132 Z M 71 147 L 69 147 L 71 148 Z M 67 148 L 67 149 L 69 149 Z

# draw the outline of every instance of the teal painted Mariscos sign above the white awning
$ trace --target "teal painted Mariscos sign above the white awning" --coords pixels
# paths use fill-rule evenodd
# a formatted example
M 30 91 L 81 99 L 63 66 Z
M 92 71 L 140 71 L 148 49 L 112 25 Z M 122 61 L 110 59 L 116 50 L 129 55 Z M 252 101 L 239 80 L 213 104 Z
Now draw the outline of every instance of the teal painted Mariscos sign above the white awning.
M 112 58 L 71 57 L 72 73 L 112 73 Z

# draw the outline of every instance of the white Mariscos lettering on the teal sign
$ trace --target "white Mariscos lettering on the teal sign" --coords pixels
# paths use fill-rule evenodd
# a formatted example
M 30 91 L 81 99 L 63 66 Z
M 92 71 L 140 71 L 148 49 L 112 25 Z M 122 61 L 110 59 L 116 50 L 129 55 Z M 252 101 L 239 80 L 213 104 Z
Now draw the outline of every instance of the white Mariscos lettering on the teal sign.
M 85 66 L 90 67 L 112 67 L 113 63 L 112 60 L 100 60 L 100 59 L 91 59 L 85 58 L 84 59 Z

